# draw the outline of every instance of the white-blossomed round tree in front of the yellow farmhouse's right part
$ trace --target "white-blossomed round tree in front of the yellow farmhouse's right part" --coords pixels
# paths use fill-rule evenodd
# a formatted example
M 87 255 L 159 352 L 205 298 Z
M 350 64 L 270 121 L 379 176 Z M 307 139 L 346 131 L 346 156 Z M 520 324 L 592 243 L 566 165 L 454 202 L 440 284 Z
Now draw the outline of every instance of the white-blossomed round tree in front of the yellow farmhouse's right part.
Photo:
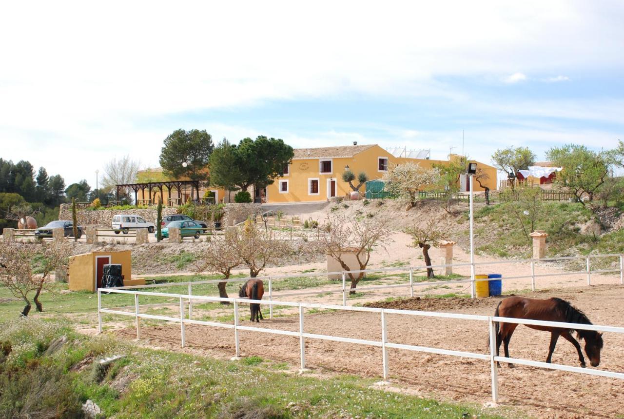
M 385 189 L 409 201 L 407 209 L 410 209 L 416 205 L 418 191 L 435 184 L 439 177 L 438 170 L 426 169 L 417 163 L 396 164 L 392 165 L 384 175 Z

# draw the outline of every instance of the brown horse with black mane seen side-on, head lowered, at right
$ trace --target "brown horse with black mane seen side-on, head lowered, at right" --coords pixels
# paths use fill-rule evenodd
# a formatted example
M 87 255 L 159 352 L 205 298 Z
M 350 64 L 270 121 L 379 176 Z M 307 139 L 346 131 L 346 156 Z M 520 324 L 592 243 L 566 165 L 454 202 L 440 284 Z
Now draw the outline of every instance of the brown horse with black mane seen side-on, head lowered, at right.
M 513 317 L 513 318 L 526 318 L 530 320 L 545 320 L 548 322 L 565 322 L 565 323 L 580 323 L 590 325 L 585 313 L 578 308 L 572 307 L 570 303 L 561 298 L 548 298 L 547 300 L 538 300 L 535 298 L 522 298 L 522 297 L 508 297 L 504 298 L 499 306 L 496 307 L 494 312 L 495 316 L 500 317 Z M 500 327 L 500 330 L 499 330 Z M 514 334 L 514 330 L 517 327 L 517 323 L 496 323 L 496 355 L 499 355 L 500 342 L 504 343 L 505 357 L 509 358 L 509 340 Z M 581 346 L 577 340 L 572 336 L 574 329 L 568 330 L 565 328 L 547 327 L 547 326 L 533 326 L 527 325 L 532 329 L 545 330 L 550 332 L 550 347 L 548 348 L 548 357 L 546 362 L 550 363 L 550 358 L 555 350 L 557 339 L 559 336 L 567 339 L 578 352 L 578 361 L 581 367 L 585 367 L 585 358 L 583 358 L 583 352 Z M 600 364 L 600 350 L 602 349 L 602 333 L 595 332 L 593 330 L 577 329 L 577 338 L 585 339 L 585 353 L 592 364 L 592 367 L 598 367 Z M 497 363 L 500 367 L 500 364 Z M 512 367 L 509 364 L 509 367 Z

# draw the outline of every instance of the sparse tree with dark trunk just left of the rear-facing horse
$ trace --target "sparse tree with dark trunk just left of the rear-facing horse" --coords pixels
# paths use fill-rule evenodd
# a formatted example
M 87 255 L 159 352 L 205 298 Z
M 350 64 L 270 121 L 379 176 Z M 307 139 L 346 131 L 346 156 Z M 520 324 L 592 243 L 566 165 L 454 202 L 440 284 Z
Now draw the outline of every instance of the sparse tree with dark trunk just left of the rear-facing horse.
M 230 279 L 232 269 L 243 263 L 239 253 L 239 242 L 233 232 L 226 232 L 223 240 L 212 240 L 198 254 L 198 272 L 207 270 L 208 272 L 219 272 L 223 274 L 223 279 Z M 227 282 L 219 282 L 219 297 L 228 298 L 225 291 Z M 228 302 L 222 302 L 228 304 Z

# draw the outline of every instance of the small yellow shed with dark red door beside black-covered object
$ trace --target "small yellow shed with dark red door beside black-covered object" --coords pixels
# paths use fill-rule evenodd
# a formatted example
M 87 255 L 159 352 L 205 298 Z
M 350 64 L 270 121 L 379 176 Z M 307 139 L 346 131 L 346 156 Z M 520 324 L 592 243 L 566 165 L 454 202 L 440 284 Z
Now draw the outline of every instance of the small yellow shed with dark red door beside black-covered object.
M 69 289 L 95 292 L 102 287 L 104 265 L 120 264 L 124 285 L 145 285 L 144 279 L 132 280 L 130 250 L 90 252 L 69 257 Z

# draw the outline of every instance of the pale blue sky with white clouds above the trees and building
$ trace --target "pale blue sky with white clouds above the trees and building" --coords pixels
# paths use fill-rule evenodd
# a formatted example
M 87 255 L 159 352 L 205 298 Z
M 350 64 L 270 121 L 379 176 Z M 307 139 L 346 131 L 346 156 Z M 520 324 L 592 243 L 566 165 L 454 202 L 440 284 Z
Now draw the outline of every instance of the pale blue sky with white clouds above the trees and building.
M 178 128 L 491 162 L 624 140 L 622 1 L 7 2 L 0 157 L 66 184 Z M 463 144 L 462 144 L 463 132 Z

